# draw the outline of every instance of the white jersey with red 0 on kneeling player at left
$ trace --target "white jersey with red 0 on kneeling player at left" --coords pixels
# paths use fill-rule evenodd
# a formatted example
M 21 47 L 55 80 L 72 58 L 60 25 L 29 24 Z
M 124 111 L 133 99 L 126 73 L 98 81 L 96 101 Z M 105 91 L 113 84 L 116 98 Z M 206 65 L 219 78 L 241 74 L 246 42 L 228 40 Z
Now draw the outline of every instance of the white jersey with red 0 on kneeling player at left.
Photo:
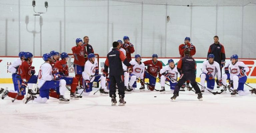
M 49 63 L 44 63 L 40 66 L 38 73 L 38 87 L 39 89 L 44 85 L 46 81 L 53 80 L 52 66 Z

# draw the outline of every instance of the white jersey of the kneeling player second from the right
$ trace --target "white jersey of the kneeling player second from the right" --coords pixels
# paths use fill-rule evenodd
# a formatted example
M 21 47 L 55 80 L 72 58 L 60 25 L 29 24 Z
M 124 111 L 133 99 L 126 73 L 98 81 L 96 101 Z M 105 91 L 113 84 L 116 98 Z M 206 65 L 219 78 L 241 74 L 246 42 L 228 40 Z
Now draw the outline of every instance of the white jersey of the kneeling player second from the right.
M 215 78 L 216 75 L 218 80 L 221 79 L 221 71 L 220 65 L 218 62 L 214 61 L 213 64 L 210 64 L 208 60 L 203 62 L 202 72 L 207 74 L 208 72 L 212 72 L 212 77 Z M 217 73 L 217 74 L 216 74 Z

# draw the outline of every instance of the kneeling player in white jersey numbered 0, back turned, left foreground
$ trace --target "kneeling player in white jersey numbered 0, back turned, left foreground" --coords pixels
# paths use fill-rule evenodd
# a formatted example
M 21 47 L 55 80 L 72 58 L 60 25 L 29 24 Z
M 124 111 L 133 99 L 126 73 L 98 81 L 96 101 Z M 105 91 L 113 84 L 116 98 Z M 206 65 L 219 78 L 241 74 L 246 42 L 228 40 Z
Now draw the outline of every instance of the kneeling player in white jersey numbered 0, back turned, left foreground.
M 38 103 L 45 103 L 49 99 L 49 90 L 50 88 L 59 88 L 60 96 L 59 103 L 69 103 L 69 99 L 64 97 L 66 90 L 66 81 L 60 79 L 59 74 L 52 74 L 52 66 L 50 65 L 51 55 L 46 53 L 43 55 L 44 64 L 40 66 L 38 73 L 38 87 L 40 90 L 40 96 L 33 96 L 27 94 L 23 103 L 28 103 L 30 100 L 33 100 Z

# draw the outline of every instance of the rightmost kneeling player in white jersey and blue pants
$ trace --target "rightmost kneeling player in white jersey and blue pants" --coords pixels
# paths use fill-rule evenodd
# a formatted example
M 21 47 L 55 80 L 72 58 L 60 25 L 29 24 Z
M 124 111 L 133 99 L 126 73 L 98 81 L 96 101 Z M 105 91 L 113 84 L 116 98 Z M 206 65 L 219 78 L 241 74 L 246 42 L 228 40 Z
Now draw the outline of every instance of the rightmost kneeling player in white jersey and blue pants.
M 241 61 L 238 61 L 238 55 L 234 54 L 230 57 L 231 64 L 228 67 L 230 73 L 230 83 L 231 87 L 233 84 L 233 92 L 231 96 L 236 96 L 238 93 L 239 96 L 245 96 L 250 93 L 255 93 L 256 89 L 244 90 L 244 84 L 247 80 L 246 72 L 249 72 L 249 68 Z

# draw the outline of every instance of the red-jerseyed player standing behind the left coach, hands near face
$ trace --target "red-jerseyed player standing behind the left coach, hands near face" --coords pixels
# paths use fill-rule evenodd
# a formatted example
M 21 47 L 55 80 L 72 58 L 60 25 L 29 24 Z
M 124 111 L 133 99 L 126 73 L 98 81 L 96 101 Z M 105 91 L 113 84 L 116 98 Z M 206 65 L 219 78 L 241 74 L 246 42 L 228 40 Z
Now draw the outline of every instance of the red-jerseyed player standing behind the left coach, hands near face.
M 133 44 L 130 43 L 130 39 L 128 36 L 124 36 L 123 40 L 124 40 L 124 44 L 122 48 L 125 49 L 126 58 L 130 62 L 132 60 L 131 54 L 134 53 L 135 50 L 134 50 Z

